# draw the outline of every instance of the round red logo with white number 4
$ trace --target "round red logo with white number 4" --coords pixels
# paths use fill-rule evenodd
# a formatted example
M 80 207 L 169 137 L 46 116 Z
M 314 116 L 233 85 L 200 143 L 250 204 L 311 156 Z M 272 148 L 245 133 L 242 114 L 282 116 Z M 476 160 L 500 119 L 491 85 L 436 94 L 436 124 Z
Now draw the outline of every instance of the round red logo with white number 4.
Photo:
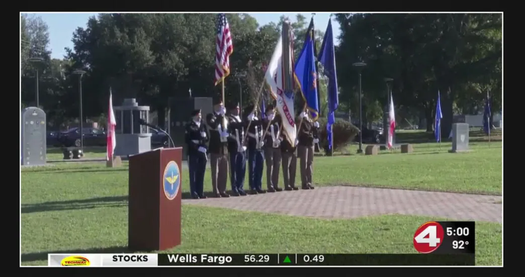
M 433 252 L 443 242 L 444 235 L 443 227 L 438 222 L 426 222 L 414 233 L 414 248 L 419 253 Z

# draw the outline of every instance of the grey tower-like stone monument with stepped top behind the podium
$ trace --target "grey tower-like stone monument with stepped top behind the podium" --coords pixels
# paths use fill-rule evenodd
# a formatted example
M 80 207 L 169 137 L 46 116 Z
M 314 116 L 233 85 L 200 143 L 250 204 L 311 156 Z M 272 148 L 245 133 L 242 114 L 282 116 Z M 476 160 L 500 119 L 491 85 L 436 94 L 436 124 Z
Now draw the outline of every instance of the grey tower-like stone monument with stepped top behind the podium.
M 129 156 L 151 150 L 151 133 L 139 120 L 150 120 L 150 107 L 139 106 L 134 98 L 124 99 L 122 105 L 113 107 L 115 113 L 115 156 Z

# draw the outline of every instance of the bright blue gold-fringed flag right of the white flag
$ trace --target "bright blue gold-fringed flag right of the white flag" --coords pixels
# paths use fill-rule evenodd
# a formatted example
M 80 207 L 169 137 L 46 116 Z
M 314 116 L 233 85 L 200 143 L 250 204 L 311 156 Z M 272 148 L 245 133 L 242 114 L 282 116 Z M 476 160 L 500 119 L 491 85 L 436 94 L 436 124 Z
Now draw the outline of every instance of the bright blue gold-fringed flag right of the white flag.
M 313 52 L 313 40 L 310 35 L 296 62 L 295 73 L 299 80 L 301 95 L 310 111 L 313 121 L 319 117 L 319 97 L 317 95 L 316 57 Z

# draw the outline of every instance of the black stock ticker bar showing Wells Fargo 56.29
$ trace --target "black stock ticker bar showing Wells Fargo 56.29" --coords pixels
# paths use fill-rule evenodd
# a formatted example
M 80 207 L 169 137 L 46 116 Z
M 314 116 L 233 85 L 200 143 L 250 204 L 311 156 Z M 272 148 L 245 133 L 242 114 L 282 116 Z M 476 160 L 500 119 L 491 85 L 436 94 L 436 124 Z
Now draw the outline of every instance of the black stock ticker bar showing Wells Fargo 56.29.
M 475 265 L 475 254 L 159 254 L 161 266 Z

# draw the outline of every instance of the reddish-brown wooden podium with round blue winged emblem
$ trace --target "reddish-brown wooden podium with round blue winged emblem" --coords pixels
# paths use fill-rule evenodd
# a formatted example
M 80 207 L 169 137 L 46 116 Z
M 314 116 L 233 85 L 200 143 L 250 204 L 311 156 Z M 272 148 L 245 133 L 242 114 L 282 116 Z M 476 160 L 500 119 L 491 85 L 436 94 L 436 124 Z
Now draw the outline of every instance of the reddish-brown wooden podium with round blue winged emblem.
M 128 247 L 157 251 L 181 244 L 182 147 L 129 157 Z

